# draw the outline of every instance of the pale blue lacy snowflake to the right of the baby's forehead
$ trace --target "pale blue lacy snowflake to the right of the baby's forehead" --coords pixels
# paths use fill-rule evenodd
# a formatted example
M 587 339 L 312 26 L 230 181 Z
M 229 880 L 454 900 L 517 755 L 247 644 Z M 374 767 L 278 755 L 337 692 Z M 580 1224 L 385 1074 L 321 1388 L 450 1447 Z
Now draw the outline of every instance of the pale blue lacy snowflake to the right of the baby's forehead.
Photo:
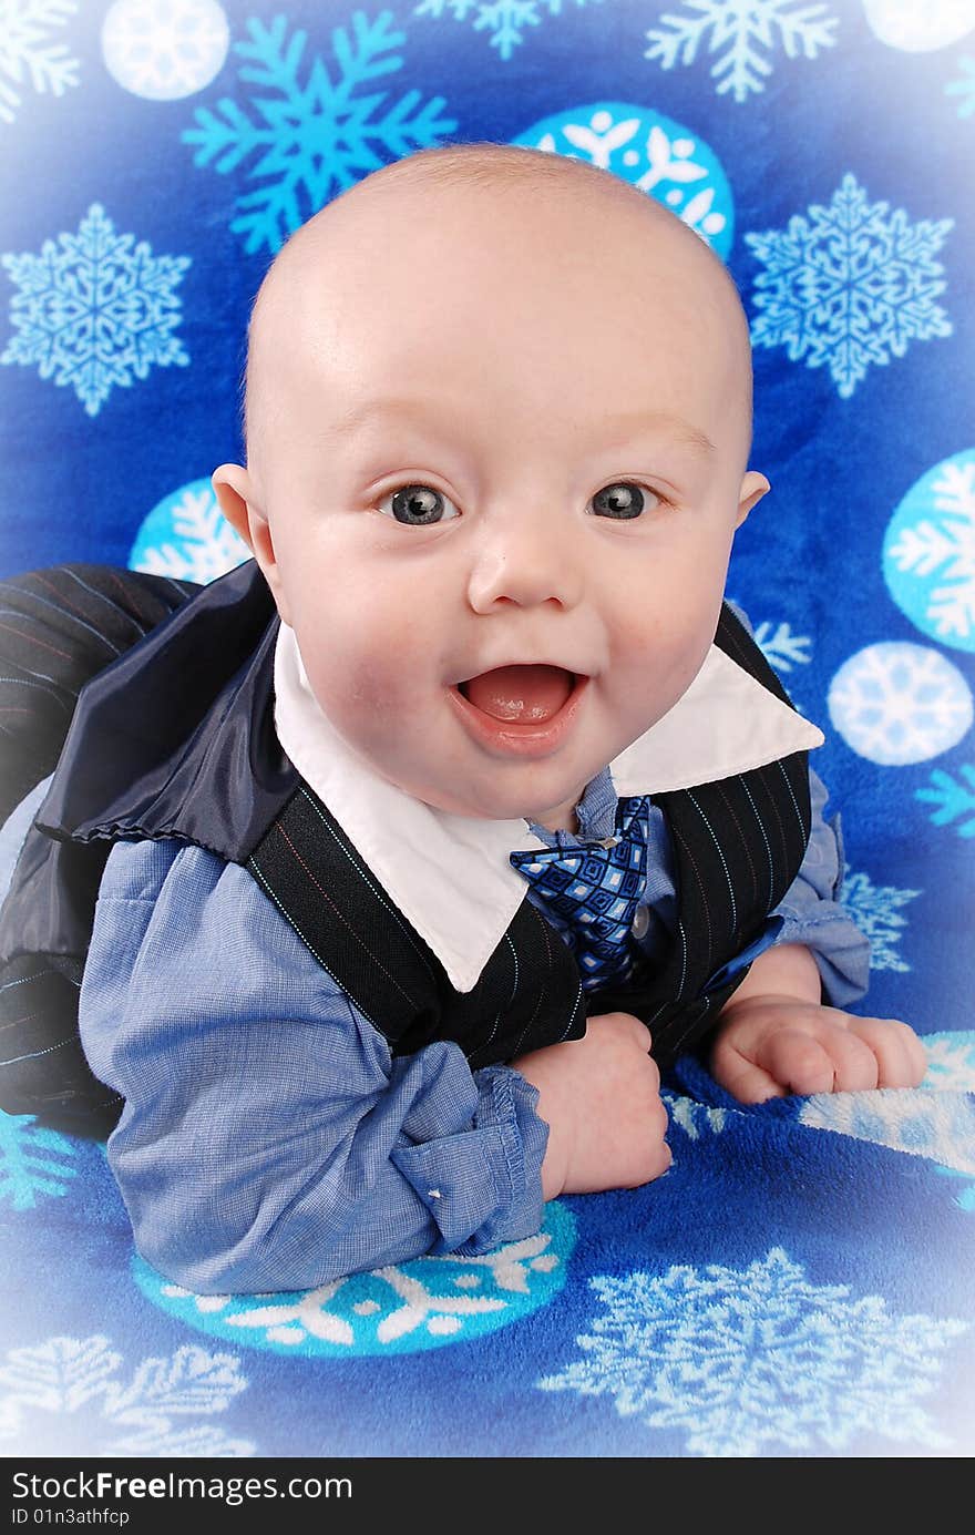
M 903 209 L 868 203 L 846 172 L 829 207 L 814 203 L 786 230 L 745 235 L 768 269 L 755 278 L 752 342 L 826 365 L 849 399 L 871 364 L 903 358 L 912 339 L 952 335 L 934 302 L 944 292 L 934 255 L 952 227 L 950 218 L 909 224 Z

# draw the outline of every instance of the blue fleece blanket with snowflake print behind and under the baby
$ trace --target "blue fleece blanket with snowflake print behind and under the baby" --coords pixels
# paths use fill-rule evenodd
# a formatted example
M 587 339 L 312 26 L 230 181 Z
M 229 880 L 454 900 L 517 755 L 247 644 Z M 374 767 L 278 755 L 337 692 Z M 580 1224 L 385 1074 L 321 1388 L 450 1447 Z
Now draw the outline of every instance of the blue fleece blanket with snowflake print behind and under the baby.
M 167 1283 L 101 1145 L 0 1117 L 0 1448 L 970 1454 L 975 3 L 18 0 L 0 132 L 0 576 L 246 557 L 209 474 L 247 305 L 370 169 L 530 144 L 691 224 L 749 316 L 772 482 L 728 596 L 826 734 L 854 1010 L 929 1059 L 912 1091 L 752 1108 L 685 1065 L 657 1183 L 286 1296 Z

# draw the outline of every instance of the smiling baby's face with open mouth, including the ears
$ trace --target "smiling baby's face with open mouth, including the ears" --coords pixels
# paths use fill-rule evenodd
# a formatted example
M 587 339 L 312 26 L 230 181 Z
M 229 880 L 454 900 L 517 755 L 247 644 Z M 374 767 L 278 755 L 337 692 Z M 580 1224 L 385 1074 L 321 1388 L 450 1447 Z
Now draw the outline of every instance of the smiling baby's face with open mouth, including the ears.
M 743 474 L 731 290 L 697 236 L 605 193 L 398 187 L 327 213 L 255 316 L 224 513 L 378 774 L 573 826 L 700 669 L 768 488 Z

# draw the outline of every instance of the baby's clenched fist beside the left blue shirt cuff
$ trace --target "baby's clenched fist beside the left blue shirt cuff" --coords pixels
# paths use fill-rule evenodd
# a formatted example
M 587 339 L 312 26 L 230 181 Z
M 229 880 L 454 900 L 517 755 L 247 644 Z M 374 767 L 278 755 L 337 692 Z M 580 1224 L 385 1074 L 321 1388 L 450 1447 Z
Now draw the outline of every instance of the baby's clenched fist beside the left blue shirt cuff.
M 542 1194 L 636 1188 L 671 1165 L 649 1030 L 631 1013 L 590 1018 L 582 1039 L 511 1061 L 539 1090 L 548 1125 Z

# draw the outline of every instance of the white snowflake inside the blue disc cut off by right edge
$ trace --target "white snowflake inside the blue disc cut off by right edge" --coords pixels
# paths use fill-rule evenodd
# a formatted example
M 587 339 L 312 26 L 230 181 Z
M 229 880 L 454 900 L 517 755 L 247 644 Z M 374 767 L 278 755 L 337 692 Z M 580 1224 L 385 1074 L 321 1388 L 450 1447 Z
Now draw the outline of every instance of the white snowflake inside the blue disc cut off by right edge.
M 975 631 L 975 459 L 944 464 L 932 499 L 935 516 L 903 527 L 884 557 L 918 577 L 938 573 L 943 585 L 927 591 L 924 617 L 950 643 Z

